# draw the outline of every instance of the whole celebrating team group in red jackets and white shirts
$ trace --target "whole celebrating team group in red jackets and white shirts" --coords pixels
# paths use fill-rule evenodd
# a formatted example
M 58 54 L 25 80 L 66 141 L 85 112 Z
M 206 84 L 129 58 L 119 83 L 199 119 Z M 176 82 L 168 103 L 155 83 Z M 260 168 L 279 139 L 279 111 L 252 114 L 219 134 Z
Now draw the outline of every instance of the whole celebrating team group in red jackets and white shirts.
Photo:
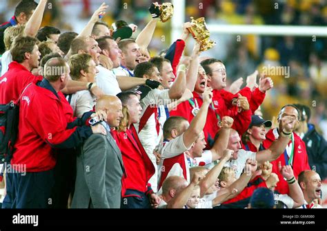
M 19 104 L 2 208 L 321 208 L 324 166 L 299 132 L 310 109 L 264 120 L 269 76 L 226 91 L 201 41 L 184 56 L 190 22 L 151 57 L 157 3 L 136 39 L 99 21 L 105 3 L 80 34 L 40 28 L 46 3 L 22 0 L 1 25 L 0 104 Z

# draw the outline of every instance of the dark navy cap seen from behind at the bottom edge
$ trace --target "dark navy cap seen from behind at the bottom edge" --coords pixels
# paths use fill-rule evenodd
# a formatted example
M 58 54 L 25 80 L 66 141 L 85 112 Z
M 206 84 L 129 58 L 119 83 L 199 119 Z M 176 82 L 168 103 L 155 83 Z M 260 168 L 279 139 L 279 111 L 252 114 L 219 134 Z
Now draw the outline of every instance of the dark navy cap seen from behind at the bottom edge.
M 274 194 L 268 188 L 257 188 L 250 199 L 251 208 L 274 208 Z

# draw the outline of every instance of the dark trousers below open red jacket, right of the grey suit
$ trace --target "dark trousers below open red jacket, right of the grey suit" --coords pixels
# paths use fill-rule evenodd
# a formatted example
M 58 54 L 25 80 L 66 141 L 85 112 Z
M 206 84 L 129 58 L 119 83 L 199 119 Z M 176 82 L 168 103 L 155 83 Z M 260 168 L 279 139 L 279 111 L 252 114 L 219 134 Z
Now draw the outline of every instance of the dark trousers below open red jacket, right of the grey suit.
M 121 197 L 121 208 L 151 208 L 151 205 L 145 192 L 128 189 Z

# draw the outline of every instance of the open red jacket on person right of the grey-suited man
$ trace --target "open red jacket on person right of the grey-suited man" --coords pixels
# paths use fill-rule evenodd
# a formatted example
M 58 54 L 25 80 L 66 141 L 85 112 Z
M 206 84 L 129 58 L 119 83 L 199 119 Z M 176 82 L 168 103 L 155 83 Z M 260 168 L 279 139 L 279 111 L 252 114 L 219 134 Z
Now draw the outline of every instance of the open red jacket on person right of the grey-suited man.
M 148 181 L 155 174 L 155 166 L 153 166 L 139 141 L 135 127 L 130 125 L 130 129 L 127 129 L 126 132 L 112 131 L 112 137 L 116 140 L 123 157 L 123 165 L 126 171 L 123 184 L 126 190 L 138 190 L 146 194 L 152 192 Z M 125 192 L 122 191 L 121 196 L 132 195 L 125 195 Z

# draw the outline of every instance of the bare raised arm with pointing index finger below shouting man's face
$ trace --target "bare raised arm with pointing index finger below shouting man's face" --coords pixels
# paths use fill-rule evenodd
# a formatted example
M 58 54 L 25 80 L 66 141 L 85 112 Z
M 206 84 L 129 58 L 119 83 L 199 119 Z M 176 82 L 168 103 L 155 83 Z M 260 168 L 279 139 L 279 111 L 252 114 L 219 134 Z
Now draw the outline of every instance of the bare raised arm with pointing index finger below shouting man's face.
M 192 145 L 197 137 L 204 130 L 204 124 L 206 124 L 206 118 L 208 114 L 208 107 L 212 102 L 212 88 L 207 87 L 204 93 L 202 94 L 204 103 L 202 104 L 199 112 L 193 118 L 188 129 L 184 132 L 183 142 L 185 146 Z

